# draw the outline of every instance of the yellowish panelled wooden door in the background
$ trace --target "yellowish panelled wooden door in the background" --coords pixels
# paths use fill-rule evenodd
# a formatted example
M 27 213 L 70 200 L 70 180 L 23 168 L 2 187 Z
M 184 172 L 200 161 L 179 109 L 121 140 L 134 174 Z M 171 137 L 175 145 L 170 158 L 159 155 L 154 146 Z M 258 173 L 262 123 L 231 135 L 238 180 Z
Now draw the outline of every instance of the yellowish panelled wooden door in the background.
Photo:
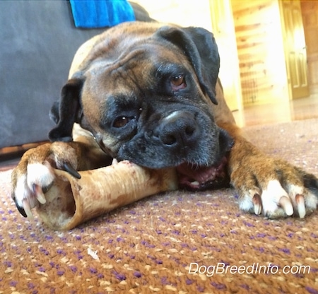
M 299 0 L 279 1 L 283 17 L 284 47 L 291 96 L 307 97 L 307 53 Z

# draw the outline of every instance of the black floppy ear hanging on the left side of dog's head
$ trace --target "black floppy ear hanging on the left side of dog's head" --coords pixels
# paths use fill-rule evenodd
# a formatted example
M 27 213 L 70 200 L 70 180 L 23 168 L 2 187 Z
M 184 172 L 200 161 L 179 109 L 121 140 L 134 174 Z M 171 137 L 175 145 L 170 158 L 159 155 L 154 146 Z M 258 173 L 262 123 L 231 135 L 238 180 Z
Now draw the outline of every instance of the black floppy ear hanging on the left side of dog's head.
M 49 131 L 50 141 L 72 141 L 74 122 L 81 120 L 81 88 L 83 80 L 72 78 L 61 90 L 61 99 L 52 106 L 50 117 L 57 124 Z

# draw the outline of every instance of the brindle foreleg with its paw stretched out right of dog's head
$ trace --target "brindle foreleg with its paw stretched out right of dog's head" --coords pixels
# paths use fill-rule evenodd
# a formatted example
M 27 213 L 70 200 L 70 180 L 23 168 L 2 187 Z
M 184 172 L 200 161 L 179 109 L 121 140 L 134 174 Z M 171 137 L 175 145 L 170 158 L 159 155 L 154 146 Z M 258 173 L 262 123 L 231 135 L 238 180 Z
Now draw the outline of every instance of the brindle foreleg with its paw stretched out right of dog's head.
M 269 218 L 291 215 L 303 218 L 314 211 L 318 203 L 317 178 L 284 160 L 272 158 L 250 143 L 235 124 L 219 80 L 216 96 L 216 122 L 235 140 L 228 169 L 240 208 Z

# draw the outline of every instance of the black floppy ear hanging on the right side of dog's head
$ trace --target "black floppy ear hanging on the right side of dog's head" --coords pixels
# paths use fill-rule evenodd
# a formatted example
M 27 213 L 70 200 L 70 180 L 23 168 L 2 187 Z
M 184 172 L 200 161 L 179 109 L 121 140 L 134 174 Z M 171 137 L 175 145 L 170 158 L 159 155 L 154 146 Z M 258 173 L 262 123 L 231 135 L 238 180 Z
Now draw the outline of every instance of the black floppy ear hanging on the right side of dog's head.
M 202 90 L 214 104 L 218 104 L 216 81 L 220 68 L 220 57 L 213 34 L 204 28 L 169 26 L 160 28 L 158 34 L 182 49 L 194 66 Z

